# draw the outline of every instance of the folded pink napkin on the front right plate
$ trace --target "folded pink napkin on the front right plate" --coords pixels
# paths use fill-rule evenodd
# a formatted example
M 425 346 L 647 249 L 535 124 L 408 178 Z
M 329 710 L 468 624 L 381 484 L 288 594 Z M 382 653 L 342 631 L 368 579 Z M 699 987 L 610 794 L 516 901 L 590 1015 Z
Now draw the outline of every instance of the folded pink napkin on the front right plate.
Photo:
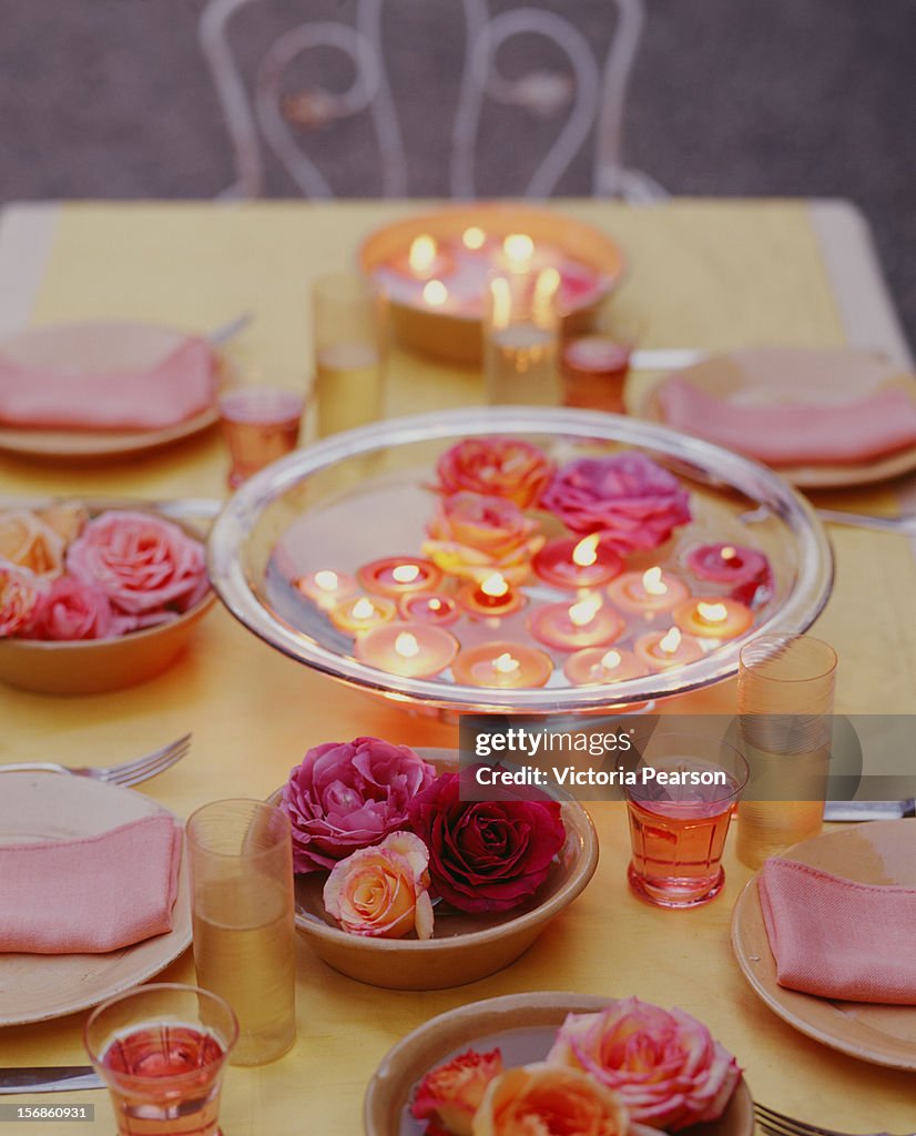
M 779 858 L 763 866 L 758 888 L 780 986 L 916 1005 L 916 888 L 856 884 Z

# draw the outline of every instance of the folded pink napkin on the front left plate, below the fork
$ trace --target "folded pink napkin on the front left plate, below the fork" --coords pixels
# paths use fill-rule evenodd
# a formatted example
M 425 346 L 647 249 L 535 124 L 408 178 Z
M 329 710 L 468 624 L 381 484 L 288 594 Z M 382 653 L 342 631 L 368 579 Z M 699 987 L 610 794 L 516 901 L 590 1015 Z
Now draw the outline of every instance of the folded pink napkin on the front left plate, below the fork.
M 182 829 L 160 813 L 99 836 L 0 845 L 0 951 L 102 954 L 171 930 Z

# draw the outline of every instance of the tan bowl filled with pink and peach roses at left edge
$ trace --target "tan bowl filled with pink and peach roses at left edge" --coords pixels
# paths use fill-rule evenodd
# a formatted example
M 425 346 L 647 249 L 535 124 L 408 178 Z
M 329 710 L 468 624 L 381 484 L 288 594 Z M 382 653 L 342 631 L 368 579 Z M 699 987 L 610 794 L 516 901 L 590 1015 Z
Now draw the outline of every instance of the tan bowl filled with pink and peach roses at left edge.
M 0 680 L 100 694 L 152 678 L 216 595 L 201 534 L 144 506 L 49 502 L 0 513 Z

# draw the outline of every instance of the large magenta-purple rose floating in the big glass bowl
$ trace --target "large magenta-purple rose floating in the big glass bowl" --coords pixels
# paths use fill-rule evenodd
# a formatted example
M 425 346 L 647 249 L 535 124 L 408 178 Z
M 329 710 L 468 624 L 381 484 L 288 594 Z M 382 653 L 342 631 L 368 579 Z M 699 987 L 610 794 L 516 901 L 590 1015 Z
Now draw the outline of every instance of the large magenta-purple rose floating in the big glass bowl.
M 603 542 L 623 556 L 657 548 L 690 520 L 687 490 L 636 450 L 571 461 L 540 503 L 574 533 L 600 533 Z

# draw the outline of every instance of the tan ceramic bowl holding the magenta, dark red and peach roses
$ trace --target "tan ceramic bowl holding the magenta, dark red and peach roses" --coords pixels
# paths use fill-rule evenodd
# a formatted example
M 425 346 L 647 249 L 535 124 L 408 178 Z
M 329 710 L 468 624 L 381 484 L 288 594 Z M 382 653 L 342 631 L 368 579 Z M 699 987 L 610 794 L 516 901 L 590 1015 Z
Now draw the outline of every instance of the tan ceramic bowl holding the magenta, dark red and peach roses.
M 455 767 L 449 750 L 419 750 L 437 771 Z M 278 803 L 281 791 L 271 797 Z M 381 938 L 342 930 L 322 899 L 326 872 L 296 876 L 295 921 L 314 952 L 342 974 L 388 989 L 444 989 L 491 975 L 514 962 L 547 924 L 588 884 L 598 863 L 598 840 L 578 801 L 561 803 L 565 837 L 533 896 L 509 911 L 446 913 L 437 904 L 431 938 Z

